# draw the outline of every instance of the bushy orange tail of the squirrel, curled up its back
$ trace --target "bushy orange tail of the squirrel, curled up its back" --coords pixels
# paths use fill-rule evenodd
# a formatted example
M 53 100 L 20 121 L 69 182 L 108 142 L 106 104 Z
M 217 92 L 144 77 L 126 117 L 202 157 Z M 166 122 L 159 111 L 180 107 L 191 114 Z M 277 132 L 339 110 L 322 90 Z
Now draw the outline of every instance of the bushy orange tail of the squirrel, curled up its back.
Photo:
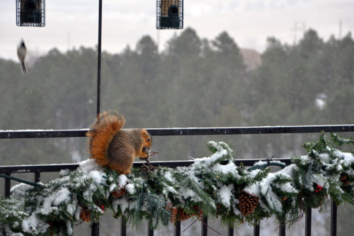
M 108 147 L 124 124 L 123 116 L 103 112 L 98 116 L 91 130 L 86 133 L 86 136 L 90 137 L 90 158 L 96 159 L 97 164 L 108 166 Z

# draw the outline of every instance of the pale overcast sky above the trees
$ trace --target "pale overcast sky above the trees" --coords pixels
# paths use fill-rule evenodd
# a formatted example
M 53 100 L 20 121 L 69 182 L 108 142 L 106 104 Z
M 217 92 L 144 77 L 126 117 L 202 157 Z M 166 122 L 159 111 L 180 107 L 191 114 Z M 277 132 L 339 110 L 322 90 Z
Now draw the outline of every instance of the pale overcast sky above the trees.
M 200 38 L 209 40 L 227 31 L 239 47 L 258 52 L 265 50 L 269 36 L 292 44 L 295 38 L 302 38 L 303 29 L 313 28 L 324 40 L 354 30 L 353 0 L 185 0 L 183 4 L 184 28 L 191 27 Z M 98 0 L 47 0 L 45 14 L 43 28 L 18 27 L 16 1 L 1 0 L 0 57 L 17 60 L 16 46 L 21 38 L 33 55 L 54 47 L 66 52 L 81 45 L 97 45 Z M 159 38 L 163 50 L 174 33 L 181 30 L 156 30 L 155 0 L 103 0 L 105 51 L 120 53 L 127 45 L 135 49 L 143 35 L 156 42 Z

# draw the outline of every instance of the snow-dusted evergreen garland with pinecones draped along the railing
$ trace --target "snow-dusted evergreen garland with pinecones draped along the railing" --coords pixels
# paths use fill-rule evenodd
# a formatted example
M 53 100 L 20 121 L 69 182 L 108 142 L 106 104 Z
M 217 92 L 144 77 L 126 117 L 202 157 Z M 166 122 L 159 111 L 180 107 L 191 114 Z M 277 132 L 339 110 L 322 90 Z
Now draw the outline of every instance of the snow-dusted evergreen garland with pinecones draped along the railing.
M 339 146 L 354 144 L 351 138 L 331 137 Z M 236 166 L 234 151 L 224 142 L 208 142 L 213 154 L 190 167 L 134 168 L 127 176 L 88 159 L 47 184 L 18 184 L 10 197 L 2 196 L 0 235 L 72 235 L 74 225 L 96 222 L 108 208 L 131 226 L 147 220 L 156 228 L 202 215 L 227 225 L 275 215 L 291 225 L 307 208 L 324 206 L 326 198 L 354 204 L 353 152 L 333 148 L 324 133 L 303 146 L 307 155 L 292 157 L 292 164 L 273 173 L 267 162 L 250 170 Z

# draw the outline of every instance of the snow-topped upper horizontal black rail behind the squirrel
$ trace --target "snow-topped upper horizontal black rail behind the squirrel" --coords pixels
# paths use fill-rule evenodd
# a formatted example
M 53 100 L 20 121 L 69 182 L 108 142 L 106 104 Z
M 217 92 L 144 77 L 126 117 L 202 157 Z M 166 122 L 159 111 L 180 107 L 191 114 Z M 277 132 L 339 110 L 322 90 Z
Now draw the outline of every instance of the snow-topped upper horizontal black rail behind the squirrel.
M 0 130 L 0 138 L 85 137 L 89 129 L 78 130 Z M 354 132 L 354 125 L 254 126 L 224 128 L 149 128 L 153 136 L 169 135 L 247 135 L 282 133 Z

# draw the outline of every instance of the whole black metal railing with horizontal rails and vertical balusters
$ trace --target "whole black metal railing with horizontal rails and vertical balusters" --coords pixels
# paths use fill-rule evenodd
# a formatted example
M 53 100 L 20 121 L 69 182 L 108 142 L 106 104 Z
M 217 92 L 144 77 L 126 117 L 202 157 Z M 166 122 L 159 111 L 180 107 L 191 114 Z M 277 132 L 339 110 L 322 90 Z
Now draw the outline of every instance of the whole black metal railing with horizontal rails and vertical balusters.
M 0 139 L 8 138 L 46 138 L 46 137 L 85 137 L 89 129 L 80 130 L 0 130 Z M 354 125 L 307 125 L 307 126 L 263 126 L 263 127 L 241 127 L 241 128 L 162 128 L 162 129 L 147 129 L 153 136 L 167 135 L 240 135 L 240 134 L 284 134 L 284 133 L 320 133 L 324 132 L 354 132 Z M 265 159 L 239 159 L 235 160 L 236 164 L 241 162 L 246 166 L 253 166 L 255 162 Z M 290 159 L 275 159 L 290 164 Z M 152 162 L 155 166 L 181 167 L 189 166 L 193 161 L 176 161 L 176 162 Z M 136 162 L 135 167 L 139 167 L 142 163 Z M 34 173 L 35 182 L 40 181 L 40 174 L 44 172 L 60 172 L 62 169 L 76 169 L 78 164 L 45 164 L 45 165 L 21 165 L 0 167 L 0 174 L 16 173 Z M 10 195 L 11 179 L 5 179 L 4 184 L 5 195 Z M 305 216 L 305 235 L 311 235 L 312 227 L 312 209 L 307 209 Z M 201 224 L 201 235 L 207 235 L 207 216 Z M 280 223 L 279 235 L 285 236 L 285 223 Z M 253 235 L 260 235 L 261 227 L 256 225 L 253 227 Z M 336 236 L 337 231 L 337 206 L 331 201 L 331 236 Z M 126 235 L 126 227 L 122 223 L 121 235 Z M 229 227 L 227 230 L 229 236 L 234 235 L 234 228 Z M 99 224 L 91 225 L 91 235 L 99 235 Z M 154 235 L 154 230 L 149 228 L 148 235 Z M 181 235 L 181 222 L 176 223 L 175 235 Z

